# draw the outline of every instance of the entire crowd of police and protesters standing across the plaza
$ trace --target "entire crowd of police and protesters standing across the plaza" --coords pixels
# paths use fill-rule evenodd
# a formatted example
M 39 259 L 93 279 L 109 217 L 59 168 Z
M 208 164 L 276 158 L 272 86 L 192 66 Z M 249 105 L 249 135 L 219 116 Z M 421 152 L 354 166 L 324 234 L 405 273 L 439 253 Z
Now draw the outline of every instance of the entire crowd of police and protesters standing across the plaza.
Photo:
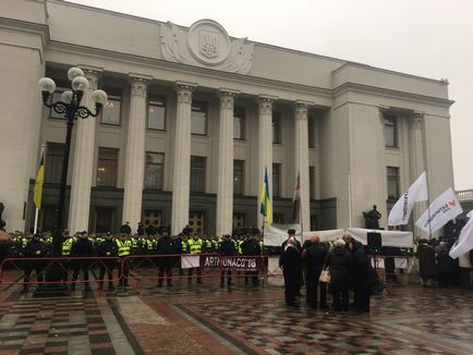
M 348 310 L 355 307 L 361 311 L 369 311 L 369 296 L 373 286 L 379 282 L 373 270 L 365 247 L 349 236 L 336 241 L 323 243 L 317 235 L 304 242 L 304 245 L 295 237 L 295 231 L 288 231 L 288 240 L 280 247 L 269 250 L 263 246 L 262 236 L 256 228 L 240 228 L 232 235 L 217 236 L 193 233 L 186 225 L 182 233 L 170 235 L 170 227 L 146 227 L 138 223 L 135 233 L 129 223 L 121 227 L 120 233 L 106 233 L 89 235 L 83 231 L 70 235 L 64 231 L 62 242 L 62 257 L 100 257 L 98 267 L 99 289 L 104 287 L 105 277 L 108 278 L 108 289 L 113 290 L 113 273 L 120 274 L 118 286 L 126 286 L 131 262 L 125 262 L 130 255 L 181 255 L 217 253 L 223 256 L 250 256 L 250 255 L 280 255 L 280 267 L 283 270 L 286 284 L 286 302 L 289 306 L 296 305 L 296 297 L 301 287 L 305 284 L 306 303 L 313 307 L 328 308 L 327 294 L 331 294 L 331 307 L 336 310 Z M 24 257 L 24 281 L 31 281 L 31 274 L 36 271 L 37 281 L 44 281 L 46 260 L 37 260 L 51 256 L 53 237 L 49 233 L 13 235 L 13 247 L 10 256 Z M 419 260 L 419 274 L 422 286 L 451 286 L 462 285 L 470 287 L 472 278 L 473 250 L 453 260 L 449 256 L 449 249 L 454 241 L 444 238 L 420 240 L 413 248 L 383 248 L 375 254 L 387 255 L 385 257 L 386 281 L 397 282 L 395 272 L 395 257 L 414 256 Z M 274 253 L 272 253 L 274 252 Z M 389 256 L 389 257 L 388 257 Z M 113 259 L 114 258 L 114 259 Z M 28 260 L 31 259 L 31 260 Z M 123 272 L 118 269 L 117 260 L 121 259 Z M 163 285 L 166 280 L 172 285 L 172 271 L 179 270 L 179 276 L 192 283 L 196 279 L 202 283 L 201 268 L 189 268 L 186 276 L 178 257 L 157 258 L 156 266 L 159 269 L 157 286 Z M 90 260 L 64 260 L 62 268 L 63 280 L 69 277 L 77 281 L 82 272 L 85 290 L 89 290 Z M 392 264 L 392 265 L 391 265 Z M 331 280 L 329 283 L 319 281 L 323 270 L 329 270 Z M 71 273 L 71 276 L 69 276 Z M 195 278 L 193 274 L 196 273 Z M 117 274 L 117 273 L 116 273 Z M 244 274 L 245 283 L 258 284 L 258 271 L 248 271 Z M 220 285 L 232 285 L 232 272 L 222 270 Z M 75 287 L 75 282 L 71 289 Z M 353 291 L 354 299 L 349 303 L 349 291 Z

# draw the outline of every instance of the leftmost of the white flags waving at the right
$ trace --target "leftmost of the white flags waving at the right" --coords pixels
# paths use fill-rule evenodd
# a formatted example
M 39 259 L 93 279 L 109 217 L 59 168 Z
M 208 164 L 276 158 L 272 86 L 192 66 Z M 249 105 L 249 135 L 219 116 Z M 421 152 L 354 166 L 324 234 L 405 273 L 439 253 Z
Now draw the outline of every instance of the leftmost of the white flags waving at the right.
M 427 175 L 424 171 L 392 207 L 388 217 L 388 225 L 408 224 L 414 204 L 427 199 Z

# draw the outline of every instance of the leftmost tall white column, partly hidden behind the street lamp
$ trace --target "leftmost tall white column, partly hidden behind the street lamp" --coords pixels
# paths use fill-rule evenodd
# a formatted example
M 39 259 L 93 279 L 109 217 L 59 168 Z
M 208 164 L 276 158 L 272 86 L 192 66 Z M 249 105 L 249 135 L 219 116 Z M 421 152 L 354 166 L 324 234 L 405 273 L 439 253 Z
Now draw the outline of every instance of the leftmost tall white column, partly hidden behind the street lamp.
M 88 79 L 88 89 L 84 93 L 82 105 L 95 112 L 92 91 L 97 89 L 100 71 L 83 70 Z M 88 230 L 90 210 L 90 188 L 94 172 L 95 126 L 98 118 L 75 121 L 74 162 L 71 180 L 71 204 L 69 208 L 69 229 L 71 233 Z

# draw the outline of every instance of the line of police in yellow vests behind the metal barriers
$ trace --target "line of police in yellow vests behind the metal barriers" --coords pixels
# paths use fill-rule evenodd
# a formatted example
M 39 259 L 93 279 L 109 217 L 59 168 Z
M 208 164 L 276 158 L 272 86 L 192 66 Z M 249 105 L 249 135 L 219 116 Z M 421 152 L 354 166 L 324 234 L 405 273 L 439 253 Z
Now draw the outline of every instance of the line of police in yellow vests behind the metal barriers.
M 105 277 L 108 278 L 108 289 L 113 290 L 113 272 L 118 269 L 117 261 L 122 265 L 123 272 L 119 272 L 120 280 L 119 287 L 126 287 L 131 268 L 129 256 L 160 256 L 153 259 L 153 262 L 159 269 L 158 287 L 163 285 L 165 279 L 167 285 L 172 285 L 172 270 L 179 270 L 181 277 L 184 276 L 184 270 L 181 267 L 180 258 L 172 257 L 172 255 L 182 254 L 207 254 L 217 253 L 220 255 L 260 255 L 263 250 L 263 242 L 259 234 L 242 234 L 235 236 L 223 235 L 221 238 L 217 236 L 201 235 L 193 233 L 189 227 L 183 229 L 182 233 L 171 236 L 169 228 L 156 229 L 153 232 L 156 234 L 141 233 L 141 228 L 136 233 L 131 233 L 129 223 L 121 227 L 119 234 L 113 235 L 108 232 L 104 235 L 89 235 L 86 231 L 71 235 L 69 231 L 62 234 L 62 250 L 63 257 L 62 270 L 63 281 L 68 281 L 69 271 L 72 271 L 71 290 L 75 289 L 80 273 L 83 274 L 84 287 L 86 291 L 89 287 L 89 272 L 94 269 L 90 257 L 100 257 L 98 264 L 99 274 L 96 279 L 99 283 L 99 289 L 104 287 Z M 12 256 L 24 258 L 24 282 L 26 284 L 31 281 L 31 274 L 35 270 L 37 281 L 44 281 L 44 271 L 46 267 L 46 259 L 51 256 L 53 237 L 50 234 L 35 233 L 31 235 L 16 234 L 13 236 Z M 68 260 L 68 258 L 73 259 Z M 82 259 L 74 259 L 82 258 Z M 202 281 L 202 270 L 199 267 L 187 269 L 187 283 L 192 283 L 193 273 L 196 272 L 197 283 Z M 247 271 L 245 273 L 245 284 L 253 282 L 258 284 L 259 280 L 257 271 Z M 233 285 L 230 270 L 221 271 L 221 283 L 223 286 L 227 282 L 228 285 Z

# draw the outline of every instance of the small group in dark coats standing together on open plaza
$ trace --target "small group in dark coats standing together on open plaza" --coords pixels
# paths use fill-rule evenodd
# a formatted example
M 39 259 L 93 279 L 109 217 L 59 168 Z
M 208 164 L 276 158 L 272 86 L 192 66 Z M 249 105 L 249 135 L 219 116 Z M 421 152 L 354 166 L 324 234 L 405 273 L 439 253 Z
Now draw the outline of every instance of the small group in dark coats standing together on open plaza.
M 284 295 L 288 306 L 298 306 L 298 295 L 305 283 L 306 304 L 322 309 L 330 308 L 327 293 L 332 295 L 331 308 L 349 310 L 356 308 L 369 313 L 369 296 L 373 287 L 380 280 L 366 256 L 363 245 L 352 237 L 322 243 L 318 235 L 304 242 L 294 237 L 295 231 L 288 231 L 288 240 L 281 245 L 279 266 L 284 276 Z M 323 270 L 330 273 L 328 280 L 322 280 Z M 353 290 L 354 299 L 350 305 L 349 290 Z

